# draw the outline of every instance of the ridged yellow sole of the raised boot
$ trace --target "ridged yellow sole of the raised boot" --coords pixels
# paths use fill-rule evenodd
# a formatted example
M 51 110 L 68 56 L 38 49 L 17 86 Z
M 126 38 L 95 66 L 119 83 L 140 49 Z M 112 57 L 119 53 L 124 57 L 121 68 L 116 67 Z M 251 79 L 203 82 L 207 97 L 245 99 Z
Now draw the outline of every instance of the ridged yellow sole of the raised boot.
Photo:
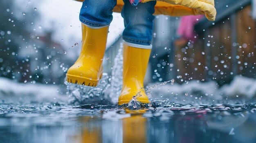
M 67 82 L 70 82 L 72 84 L 84 85 L 84 86 L 95 87 L 95 86 L 98 85 L 98 82 L 99 82 L 99 80 L 88 79 L 86 77 L 79 77 L 79 76 L 76 76 L 76 75 L 66 74 L 66 77 L 67 77 Z

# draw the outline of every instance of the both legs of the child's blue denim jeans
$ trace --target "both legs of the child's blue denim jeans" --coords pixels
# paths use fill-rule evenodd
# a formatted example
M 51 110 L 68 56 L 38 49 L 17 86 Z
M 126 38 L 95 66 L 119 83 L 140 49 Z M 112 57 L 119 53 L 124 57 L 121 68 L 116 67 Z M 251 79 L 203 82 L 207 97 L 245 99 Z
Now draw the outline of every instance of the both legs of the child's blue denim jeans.
M 85 0 L 79 19 L 89 26 L 108 26 L 112 21 L 112 10 L 116 4 L 117 0 Z M 124 0 L 121 15 L 124 18 L 123 39 L 126 42 L 140 45 L 151 44 L 155 4 L 156 1 L 150 1 L 132 6 L 129 0 Z

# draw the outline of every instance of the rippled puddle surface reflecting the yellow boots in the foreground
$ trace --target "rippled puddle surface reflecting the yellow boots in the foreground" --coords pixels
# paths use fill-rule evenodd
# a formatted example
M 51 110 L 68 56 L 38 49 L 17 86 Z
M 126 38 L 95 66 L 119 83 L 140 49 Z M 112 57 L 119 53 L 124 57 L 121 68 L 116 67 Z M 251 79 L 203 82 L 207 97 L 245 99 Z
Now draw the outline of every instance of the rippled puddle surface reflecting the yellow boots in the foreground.
M 0 104 L 0 142 L 255 143 L 254 112 L 256 105 L 155 102 L 155 108 L 125 110 L 122 106 Z

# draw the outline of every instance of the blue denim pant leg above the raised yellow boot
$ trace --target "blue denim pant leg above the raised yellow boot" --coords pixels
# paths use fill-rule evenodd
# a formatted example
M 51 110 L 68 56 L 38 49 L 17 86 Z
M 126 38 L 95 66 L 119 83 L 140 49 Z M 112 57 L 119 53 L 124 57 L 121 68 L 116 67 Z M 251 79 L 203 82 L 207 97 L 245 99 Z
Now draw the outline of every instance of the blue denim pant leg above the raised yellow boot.
M 112 10 L 117 0 L 85 0 L 80 10 L 80 21 L 89 26 L 108 26 L 113 19 Z

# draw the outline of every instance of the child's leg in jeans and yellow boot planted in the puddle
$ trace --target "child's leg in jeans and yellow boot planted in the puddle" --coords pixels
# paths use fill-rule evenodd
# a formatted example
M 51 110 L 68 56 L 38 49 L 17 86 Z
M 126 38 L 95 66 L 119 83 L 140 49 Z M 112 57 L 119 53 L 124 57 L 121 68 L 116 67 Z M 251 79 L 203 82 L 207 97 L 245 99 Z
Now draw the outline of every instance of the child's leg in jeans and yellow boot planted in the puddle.
M 123 88 L 118 104 L 128 103 L 133 96 L 144 89 L 143 81 L 152 48 L 153 13 L 155 1 L 132 6 L 124 0 L 122 16 L 125 30 Z M 145 91 L 136 97 L 138 101 L 149 103 Z

